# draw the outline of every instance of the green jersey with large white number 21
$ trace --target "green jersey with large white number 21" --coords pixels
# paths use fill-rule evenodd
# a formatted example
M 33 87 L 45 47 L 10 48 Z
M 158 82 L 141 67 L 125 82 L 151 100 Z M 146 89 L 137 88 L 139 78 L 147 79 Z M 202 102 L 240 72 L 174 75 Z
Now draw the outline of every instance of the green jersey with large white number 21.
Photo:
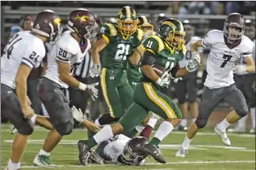
M 140 45 L 143 32 L 137 29 L 127 40 L 124 40 L 118 27 L 112 24 L 104 24 L 101 32 L 102 38 L 109 42 L 102 51 L 102 67 L 127 69 L 127 60 Z

